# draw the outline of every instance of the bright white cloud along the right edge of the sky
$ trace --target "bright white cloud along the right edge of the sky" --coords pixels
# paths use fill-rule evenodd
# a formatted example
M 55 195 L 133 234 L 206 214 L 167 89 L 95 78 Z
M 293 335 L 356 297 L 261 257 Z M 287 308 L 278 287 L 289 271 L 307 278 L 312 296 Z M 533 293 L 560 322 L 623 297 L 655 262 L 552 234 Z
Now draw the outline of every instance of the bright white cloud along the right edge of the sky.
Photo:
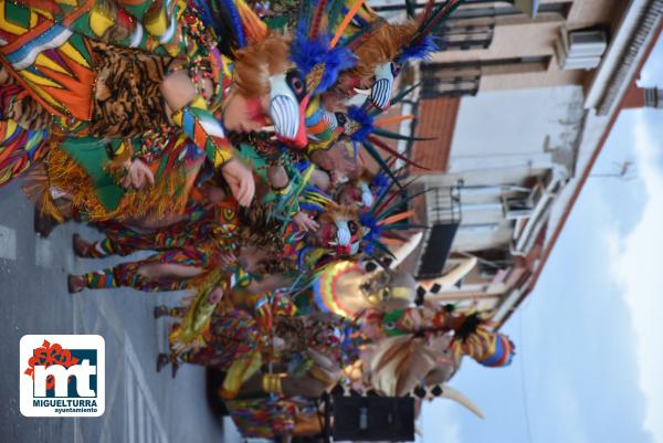
M 614 281 L 629 307 L 636 344 L 639 383 L 645 395 L 645 428 L 663 443 L 663 112 L 650 124 L 642 112 L 635 117 L 635 160 L 646 204 L 642 218 L 625 236 L 608 234 Z M 657 123 L 657 125 L 656 125 Z

